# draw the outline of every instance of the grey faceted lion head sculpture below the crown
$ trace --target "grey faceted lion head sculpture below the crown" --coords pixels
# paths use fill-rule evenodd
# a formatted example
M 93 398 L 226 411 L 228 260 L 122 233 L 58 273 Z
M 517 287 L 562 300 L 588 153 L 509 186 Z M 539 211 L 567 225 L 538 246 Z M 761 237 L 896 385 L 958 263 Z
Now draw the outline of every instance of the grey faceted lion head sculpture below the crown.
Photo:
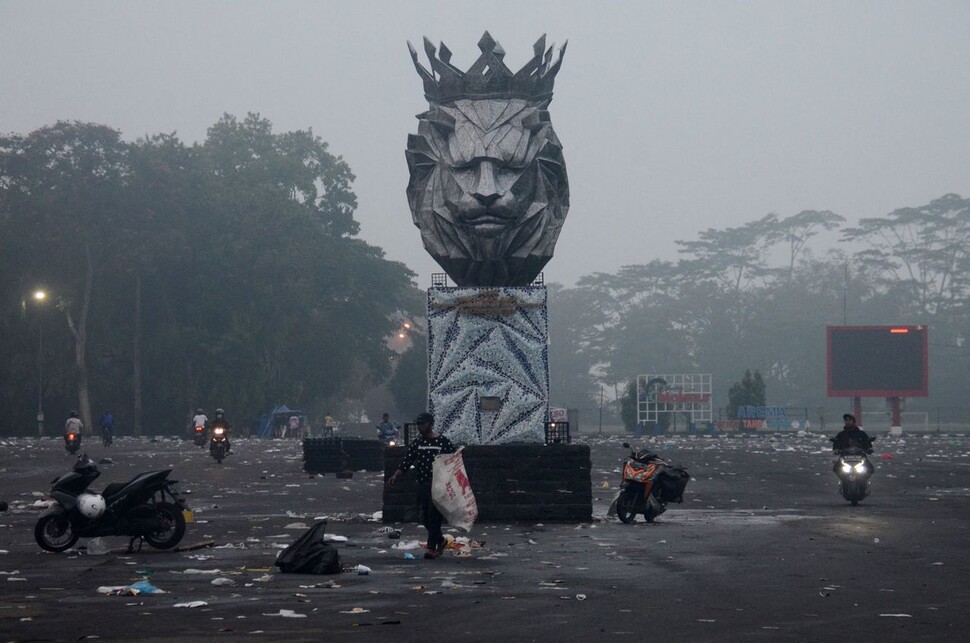
M 484 64 L 500 69 L 500 50 L 484 41 Z M 511 74 L 495 82 L 506 80 L 515 82 Z M 459 286 L 528 286 L 552 258 L 569 187 L 550 96 L 452 96 L 418 115 L 406 151 L 408 203 L 425 249 Z

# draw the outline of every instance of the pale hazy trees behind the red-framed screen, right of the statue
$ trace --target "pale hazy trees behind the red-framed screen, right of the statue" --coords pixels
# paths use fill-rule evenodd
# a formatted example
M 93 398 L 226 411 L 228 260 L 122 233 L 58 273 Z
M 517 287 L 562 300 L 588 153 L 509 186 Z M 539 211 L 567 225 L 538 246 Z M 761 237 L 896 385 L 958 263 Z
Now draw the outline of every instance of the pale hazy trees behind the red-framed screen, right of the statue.
M 829 211 L 769 214 L 676 244 L 677 261 L 550 293 L 552 404 L 580 408 L 587 428 L 600 400 L 613 413 L 635 394 L 641 373 L 712 373 L 726 407 L 732 385 L 758 371 L 769 404 L 807 408 L 813 421 L 819 406 L 848 408 L 825 396 L 825 326 L 843 323 L 928 325 L 930 397 L 907 410 L 970 421 L 970 200 L 946 194 L 856 226 Z

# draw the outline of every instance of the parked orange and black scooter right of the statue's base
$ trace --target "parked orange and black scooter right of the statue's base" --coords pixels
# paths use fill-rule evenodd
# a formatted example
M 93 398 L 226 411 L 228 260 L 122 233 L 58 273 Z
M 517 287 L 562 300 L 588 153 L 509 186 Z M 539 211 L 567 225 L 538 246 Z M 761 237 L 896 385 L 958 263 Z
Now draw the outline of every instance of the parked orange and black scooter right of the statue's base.
M 630 445 L 623 443 L 623 448 Z M 630 451 L 623 463 L 620 493 L 616 496 L 616 515 L 625 523 L 643 514 L 647 522 L 667 510 L 668 502 L 683 502 L 690 474 L 683 467 L 650 451 Z

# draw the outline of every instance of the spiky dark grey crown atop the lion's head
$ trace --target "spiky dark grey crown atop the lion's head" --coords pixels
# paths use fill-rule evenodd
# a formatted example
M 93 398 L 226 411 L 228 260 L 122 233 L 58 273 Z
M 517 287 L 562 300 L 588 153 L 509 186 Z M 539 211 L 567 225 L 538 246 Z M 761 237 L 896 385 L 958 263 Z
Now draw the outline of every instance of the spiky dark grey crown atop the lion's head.
M 451 50 L 444 43 L 435 51 L 434 45 L 424 39 L 424 51 L 431 62 L 431 71 L 418 62 L 418 52 L 408 43 L 414 67 L 424 81 L 424 96 L 430 103 L 449 103 L 459 99 L 522 98 L 543 101 L 552 98 L 552 85 L 562 65 L 566 44 L 559 49 L 555 62 L 552 60 L 554 46 L 546 49 L 543 35 L 533 45 L 532 59 L 522 69 L 512 72 L 502 59 L 505 50 L 486 31 L 478 48 L 482 55 L 463 72 L 451 64 Z

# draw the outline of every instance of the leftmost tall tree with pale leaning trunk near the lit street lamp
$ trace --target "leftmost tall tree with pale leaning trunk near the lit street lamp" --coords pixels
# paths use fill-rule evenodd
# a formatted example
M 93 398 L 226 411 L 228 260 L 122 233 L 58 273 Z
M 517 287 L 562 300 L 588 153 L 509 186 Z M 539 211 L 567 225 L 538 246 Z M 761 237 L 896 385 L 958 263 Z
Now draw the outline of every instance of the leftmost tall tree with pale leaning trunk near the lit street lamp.
M 92 425 L 87 362 L 91 302 L 100 259 L 117 237 L 127 146 L 104 125 L 58 122 L 0 140 L 0 199 L 15 213 L 8 228 L 21 268 L 50 284 L 74 340 L 77 405 Z M 28 268 L 29 266 L 29 268 Z

